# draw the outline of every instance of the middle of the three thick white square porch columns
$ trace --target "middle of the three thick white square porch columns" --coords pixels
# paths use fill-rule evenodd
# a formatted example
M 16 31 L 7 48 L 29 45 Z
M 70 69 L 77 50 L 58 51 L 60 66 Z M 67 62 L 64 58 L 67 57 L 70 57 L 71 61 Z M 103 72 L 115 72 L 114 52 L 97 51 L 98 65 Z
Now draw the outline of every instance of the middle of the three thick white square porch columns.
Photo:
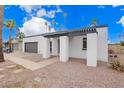
M 60 61 L 67 62 L 69 60 L 69 38 L 68 36 L 60 37 Z

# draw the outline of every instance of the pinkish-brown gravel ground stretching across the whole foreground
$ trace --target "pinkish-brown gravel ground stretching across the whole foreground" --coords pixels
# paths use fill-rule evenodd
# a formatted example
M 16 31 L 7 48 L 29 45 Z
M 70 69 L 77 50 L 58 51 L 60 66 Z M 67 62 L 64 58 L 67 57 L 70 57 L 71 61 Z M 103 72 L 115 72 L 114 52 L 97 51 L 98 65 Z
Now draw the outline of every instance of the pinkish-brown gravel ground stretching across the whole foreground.
M 118 58 L 123 61 L 124 55 L 119 54 Z M 105 62 L 98 62 L 94 68 L 86 66 L 86 60 L 70 59 L 67 63 L 57 62 L 35 71 L 12 65 L 17 64 L 8 60 L 0 63 L 0 87 L 124 87 L 124 73 L 111 69 L 109 63 Z M 18 69 L 21 72 L 16 71 Z

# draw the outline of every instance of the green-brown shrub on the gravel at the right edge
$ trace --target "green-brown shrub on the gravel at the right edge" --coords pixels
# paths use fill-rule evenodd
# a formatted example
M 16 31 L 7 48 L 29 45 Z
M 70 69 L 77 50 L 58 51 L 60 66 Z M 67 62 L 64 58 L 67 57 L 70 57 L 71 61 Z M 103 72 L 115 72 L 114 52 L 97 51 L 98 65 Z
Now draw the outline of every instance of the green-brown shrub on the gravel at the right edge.
M 120 61 L 115 60 L 110 64 L 111 64 L 112 69 L 115 69 L 120 72 L 124 72 L 124 65 Z

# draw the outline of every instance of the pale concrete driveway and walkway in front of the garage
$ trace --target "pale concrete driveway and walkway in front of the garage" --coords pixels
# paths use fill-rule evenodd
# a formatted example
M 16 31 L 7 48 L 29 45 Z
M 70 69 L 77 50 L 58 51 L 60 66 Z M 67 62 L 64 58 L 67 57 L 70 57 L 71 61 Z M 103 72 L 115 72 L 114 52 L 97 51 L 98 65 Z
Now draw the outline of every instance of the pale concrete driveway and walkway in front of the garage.
M 59 61 L 57 57 L 43 60 L 42 56 L 39 56 L 38 54 L 33 54 L 33 53 L 15 52 L 15 53 L 10 53 L 10 54 L 4 54 L 4 56 L 6 60 L 22 65 L 25 68 L 32 70 L 32 71 L 37 70 L 39 68 L 43 68 L 51 64 L 54 64 Z M 33 59 L 34 56 L 35 56 L 35 59 Z M 35 62 L 37 60 L 39 60 L 38 63 Z

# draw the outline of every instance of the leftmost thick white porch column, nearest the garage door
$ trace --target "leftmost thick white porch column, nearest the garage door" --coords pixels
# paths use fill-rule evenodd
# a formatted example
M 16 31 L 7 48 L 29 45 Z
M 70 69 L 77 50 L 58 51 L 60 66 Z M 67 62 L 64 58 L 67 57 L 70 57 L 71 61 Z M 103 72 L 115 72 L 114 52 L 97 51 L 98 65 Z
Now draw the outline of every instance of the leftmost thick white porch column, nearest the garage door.
M 43 38 L 43 58 L 49 58 L 50 57 L 50 39 L 49 38 Z

